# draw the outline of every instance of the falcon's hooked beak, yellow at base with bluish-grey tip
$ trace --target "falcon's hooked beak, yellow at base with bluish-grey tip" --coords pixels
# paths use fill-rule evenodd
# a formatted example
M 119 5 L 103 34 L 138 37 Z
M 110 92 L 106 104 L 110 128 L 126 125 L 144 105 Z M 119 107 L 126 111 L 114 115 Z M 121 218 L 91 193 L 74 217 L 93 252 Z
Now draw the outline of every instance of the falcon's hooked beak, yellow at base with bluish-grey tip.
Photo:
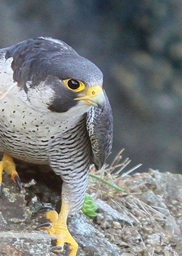
M 86 104 L 102 109 L 105 106 L 105 96 L 103 89 L 99 85 L 92 86 L 86 91 L 83 97 L 75 98 L 75 100 L 83 100 Z

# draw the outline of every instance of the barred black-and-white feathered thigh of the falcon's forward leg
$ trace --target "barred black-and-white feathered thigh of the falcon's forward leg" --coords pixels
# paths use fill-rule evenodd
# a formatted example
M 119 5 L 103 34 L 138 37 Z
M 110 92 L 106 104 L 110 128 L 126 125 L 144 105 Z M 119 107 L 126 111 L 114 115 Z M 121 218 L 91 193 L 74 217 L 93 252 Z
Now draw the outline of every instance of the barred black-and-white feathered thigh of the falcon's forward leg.
M 71 211 L 79 211 L 87 189 L 91 162 L 91 146 L 84 117 L 71 130 L 63 132 L 51 143 L 50 166 L 63 180 L 62 195 L 71 203 Z

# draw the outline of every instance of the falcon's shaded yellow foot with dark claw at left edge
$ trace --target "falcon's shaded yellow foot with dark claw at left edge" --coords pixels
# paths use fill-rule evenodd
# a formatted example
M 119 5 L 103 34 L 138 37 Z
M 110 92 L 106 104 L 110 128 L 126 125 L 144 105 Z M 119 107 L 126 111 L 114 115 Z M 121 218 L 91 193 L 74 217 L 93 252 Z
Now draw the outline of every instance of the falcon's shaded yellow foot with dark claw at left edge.
M 21 183 L 18 172 L 16 171 L 15 162 L 11 156 L 4 154 L 3 159 L 0 161 L 0 196 L 2 196 L 2 180 L 3 180 L 3 171 L 9 172 L 11 179 L 17 183 L 18 189 L 21 190 Z

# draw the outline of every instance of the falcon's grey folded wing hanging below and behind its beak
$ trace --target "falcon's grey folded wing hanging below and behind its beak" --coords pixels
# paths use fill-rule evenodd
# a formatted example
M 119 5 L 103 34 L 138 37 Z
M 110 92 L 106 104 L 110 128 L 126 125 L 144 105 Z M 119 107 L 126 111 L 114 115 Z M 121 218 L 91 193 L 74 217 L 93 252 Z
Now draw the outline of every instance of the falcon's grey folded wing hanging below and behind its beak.
M 112 110 L 105 92 L 104 109 L 92 107 L 87 113 L 87 131 L 92 146 L 92 160 L 96 169 L 102 168 L 112 148 L 113 117 Z

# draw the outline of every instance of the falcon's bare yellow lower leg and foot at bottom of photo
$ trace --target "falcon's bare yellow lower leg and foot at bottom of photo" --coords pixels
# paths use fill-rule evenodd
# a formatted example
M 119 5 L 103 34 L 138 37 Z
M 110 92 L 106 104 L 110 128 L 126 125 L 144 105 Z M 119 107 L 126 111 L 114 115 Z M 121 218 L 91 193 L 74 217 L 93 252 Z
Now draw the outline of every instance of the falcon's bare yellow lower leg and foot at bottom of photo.
M 78 249 L 78 244 L 71 236 L 68 227 L 67 227 L 67 218 L 69 213 L 69 205 L 66 204 L 64 201 L 61 205 L 61 212 L 58 215 L 56 211 L 49 211 L 47 213 L 47 218 L 50 220 L 51 225 L 47 227 L 44 224 L 40 225 L 40 227 L 44 226 L 50 235 L 56 235 L 57 242 L 56 247 L 53 248 L 51 251 L 54 253 L 59 253 L 63 251 L 64 243 L 69 243 L 70 254 L 69 256 L 76 256 L 76 252 Z

